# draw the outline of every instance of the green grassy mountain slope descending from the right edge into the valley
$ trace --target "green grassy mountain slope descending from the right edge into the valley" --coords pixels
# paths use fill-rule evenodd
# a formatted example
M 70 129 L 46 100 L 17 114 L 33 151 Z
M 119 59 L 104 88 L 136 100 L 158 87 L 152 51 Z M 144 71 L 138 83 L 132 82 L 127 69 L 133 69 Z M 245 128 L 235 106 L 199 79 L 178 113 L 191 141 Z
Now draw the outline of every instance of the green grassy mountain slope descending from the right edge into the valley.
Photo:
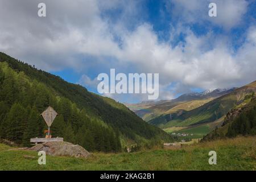
M 218 97 L 203 106 L 179 114 L 163 114 L 160 117 L 148 121 L 152 125 L 162 128 L 184 127 L 199 125 L 203 123 L 217 121 L 222 118 L 234 106 L 245 101 L 245 97 L 256 91 L 256 81 L 233 90 L 233 92 Z

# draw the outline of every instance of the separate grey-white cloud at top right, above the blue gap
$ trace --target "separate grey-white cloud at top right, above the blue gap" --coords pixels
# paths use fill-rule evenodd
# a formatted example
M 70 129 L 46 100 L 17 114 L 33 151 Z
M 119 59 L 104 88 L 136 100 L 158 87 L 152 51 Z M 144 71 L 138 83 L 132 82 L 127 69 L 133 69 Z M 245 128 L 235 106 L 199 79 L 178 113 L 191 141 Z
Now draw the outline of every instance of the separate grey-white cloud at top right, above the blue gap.
M 246 0 L 172 0 L 172 15 L 188 23 L 202 23 L 207 20 L 226 30 L 242 23 L 242 16 L 246 13 Z M 217 17 L 209 17 L 209 3 L 216 3 Z

